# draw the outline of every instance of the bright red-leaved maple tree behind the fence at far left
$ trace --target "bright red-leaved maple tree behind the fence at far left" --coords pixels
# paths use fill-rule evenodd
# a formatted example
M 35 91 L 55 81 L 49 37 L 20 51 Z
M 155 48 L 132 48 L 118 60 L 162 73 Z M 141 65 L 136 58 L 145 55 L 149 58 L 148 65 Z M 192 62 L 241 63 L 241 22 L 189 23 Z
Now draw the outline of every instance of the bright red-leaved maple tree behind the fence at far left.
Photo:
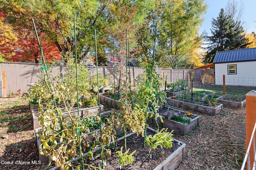
M 5 20 L 5 14 L 0 12 L 0 19 L 2 23 L 8 25 Z M 41 53 L 36 39 L 35 31 L 28 29 L 14 29 L 8 25 L 9 30 L 2 30 L 0 34 L 1 39 L 8 40 L 10 32 L 15 35 L 15 39 L 8 41 L 2 41 L 0 43 L 0 53 L 6 61 L 12 62 L 32 62 L 39 63 L 41 59 Z M 8 28 L 7 27 L 7 28 Z M 62 55 L 53 42 L 48 41 L 46 34 L 38 32 L 40 39 L 40 45 L 43 49 L 43 54 L 48 63 L 53 61 L 60 61 Z

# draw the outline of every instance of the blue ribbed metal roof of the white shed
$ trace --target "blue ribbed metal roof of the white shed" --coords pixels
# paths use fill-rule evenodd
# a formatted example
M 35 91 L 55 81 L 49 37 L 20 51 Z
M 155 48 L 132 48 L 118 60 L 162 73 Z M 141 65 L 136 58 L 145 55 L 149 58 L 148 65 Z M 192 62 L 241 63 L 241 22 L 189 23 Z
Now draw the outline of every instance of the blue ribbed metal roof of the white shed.
M 256 48 L 217 52 L 212 63 L 256 61 Z

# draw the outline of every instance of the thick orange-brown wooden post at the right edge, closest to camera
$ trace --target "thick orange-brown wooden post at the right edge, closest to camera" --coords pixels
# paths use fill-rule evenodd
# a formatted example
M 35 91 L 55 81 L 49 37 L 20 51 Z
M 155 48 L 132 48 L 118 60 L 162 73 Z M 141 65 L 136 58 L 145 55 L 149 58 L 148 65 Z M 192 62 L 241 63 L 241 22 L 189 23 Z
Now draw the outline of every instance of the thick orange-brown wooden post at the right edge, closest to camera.
M 256 91 L 252 90 L 246 94 L 246 150 L 248 149 L 248 145 L 252 136 L 252 131 L 254 128 L 254 124 L 256 122 Z M 254 134 L 255 135 L 255 134 Z M 251 167 L 248 167 L 248 161 L 247 161 L 247 170 L 253 169 L 254 164 L 254 151 L 253 151 L 253 143 L 250 147 L 250 165 Z

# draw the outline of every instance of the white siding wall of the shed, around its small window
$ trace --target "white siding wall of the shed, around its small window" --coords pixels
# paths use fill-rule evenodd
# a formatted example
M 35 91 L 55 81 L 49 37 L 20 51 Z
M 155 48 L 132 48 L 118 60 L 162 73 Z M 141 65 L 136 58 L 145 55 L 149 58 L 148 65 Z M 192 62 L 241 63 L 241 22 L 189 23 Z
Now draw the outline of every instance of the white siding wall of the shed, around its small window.
M 236 64 L 236 74 L 228 74 L 230 64 Z M 256 86 L 256 61 L 215 63 L 216 85 L 223 85 L 223 74 L 226 77 L 226 85 Z

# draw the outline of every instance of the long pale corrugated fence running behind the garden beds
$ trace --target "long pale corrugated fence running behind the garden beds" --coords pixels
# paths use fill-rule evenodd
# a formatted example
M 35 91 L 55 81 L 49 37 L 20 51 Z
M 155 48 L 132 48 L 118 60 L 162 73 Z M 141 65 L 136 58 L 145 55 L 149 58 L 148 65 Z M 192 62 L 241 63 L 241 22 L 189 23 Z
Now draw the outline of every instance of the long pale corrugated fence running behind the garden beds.
M 0 72 L 6 70 L 6 95 L 15 94 L 17 90 L 20 89 L 21 93 L 28 92 L 30 88 L 28 84 L 38 82 L 41 75 L 41 66 L 34 63 L 5 63 L 0 62 Z M 66 66 L 63 66 L 63 71 L 65 72 Z M 96 67 L 88 67 L 91 77 L 96 75 Z M 187 74 L 193 70 L 178 70 L 178 69 L 164 69 L 158 68 L 157 72 L 163 73 L 167 76 L 167 82 L 174 82 L 178 79 L 186 80 Z M 62 72 L 62 66 L 58 65 L 52 68 L 52 75 L 60 75 Z M 131 84 L 134 84 L 134 80 L 138 79 L 140 74 L 143 74 L 144 70 L 141 67 L 130 67 L 131 74 Z M 110 83 L 113 83 L 113 68 L 112 67 L 98 67 L 98 73 L 104 76 L 110 76 Z M 116 83 L 119 83 L 119 73 L 116 72 Z M 163 76 L 163 75 L 162 75 Z

